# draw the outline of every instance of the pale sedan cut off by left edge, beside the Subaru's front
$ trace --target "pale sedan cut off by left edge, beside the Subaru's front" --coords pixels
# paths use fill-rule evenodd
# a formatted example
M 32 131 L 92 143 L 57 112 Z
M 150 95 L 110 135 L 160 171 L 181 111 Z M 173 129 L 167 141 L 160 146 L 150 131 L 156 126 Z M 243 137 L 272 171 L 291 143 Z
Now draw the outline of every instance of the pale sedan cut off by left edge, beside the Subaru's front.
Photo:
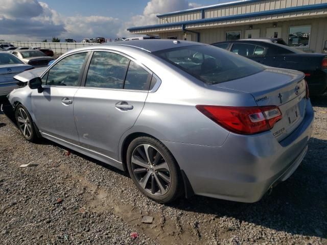
M 17 88 L 17 81 L 13 77 L 29 69 L 33 69 L 33 66 L 23 63 L 8 52 L 0 51 L 0 96 Z

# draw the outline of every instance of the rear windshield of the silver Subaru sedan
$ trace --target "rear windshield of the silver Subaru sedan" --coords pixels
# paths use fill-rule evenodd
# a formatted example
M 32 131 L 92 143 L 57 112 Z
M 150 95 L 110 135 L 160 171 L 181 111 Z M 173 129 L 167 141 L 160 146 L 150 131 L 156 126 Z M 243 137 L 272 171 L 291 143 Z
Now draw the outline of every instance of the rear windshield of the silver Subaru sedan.
M 211 45 L 178 47 L 154 54 L 206 84 L 223 83 L 264 70 L 254 61 Z

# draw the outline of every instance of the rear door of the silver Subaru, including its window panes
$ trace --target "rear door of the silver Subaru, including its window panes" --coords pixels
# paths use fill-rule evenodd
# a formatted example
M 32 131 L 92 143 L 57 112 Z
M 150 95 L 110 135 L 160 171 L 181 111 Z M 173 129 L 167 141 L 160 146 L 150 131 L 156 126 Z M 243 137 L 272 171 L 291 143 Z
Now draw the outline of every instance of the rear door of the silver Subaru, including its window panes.
M 75 94 L 74 115 L 80 145 L 118 160 L 121 136 L 141 113 L 152 74 L 118 52 L 95 51 Z

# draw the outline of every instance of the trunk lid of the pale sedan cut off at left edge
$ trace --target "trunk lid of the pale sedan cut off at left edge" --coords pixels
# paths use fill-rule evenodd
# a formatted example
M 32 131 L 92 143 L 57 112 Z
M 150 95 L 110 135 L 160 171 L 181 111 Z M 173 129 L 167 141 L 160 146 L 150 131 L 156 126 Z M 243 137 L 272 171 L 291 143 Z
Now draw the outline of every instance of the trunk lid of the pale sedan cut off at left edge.
M 31 68 L 33 67 L 27 64 L 0 65 L 0 84 L 17 83 L 13 77 Z

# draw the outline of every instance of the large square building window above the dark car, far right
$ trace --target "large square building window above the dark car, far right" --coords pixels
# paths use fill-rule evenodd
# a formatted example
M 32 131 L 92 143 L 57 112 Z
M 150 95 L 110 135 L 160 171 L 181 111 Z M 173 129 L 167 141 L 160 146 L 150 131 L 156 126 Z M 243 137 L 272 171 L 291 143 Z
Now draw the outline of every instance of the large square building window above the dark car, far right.
M 288 45 L 295 47 L 309 47 L 311 26 L 290 27 Z

